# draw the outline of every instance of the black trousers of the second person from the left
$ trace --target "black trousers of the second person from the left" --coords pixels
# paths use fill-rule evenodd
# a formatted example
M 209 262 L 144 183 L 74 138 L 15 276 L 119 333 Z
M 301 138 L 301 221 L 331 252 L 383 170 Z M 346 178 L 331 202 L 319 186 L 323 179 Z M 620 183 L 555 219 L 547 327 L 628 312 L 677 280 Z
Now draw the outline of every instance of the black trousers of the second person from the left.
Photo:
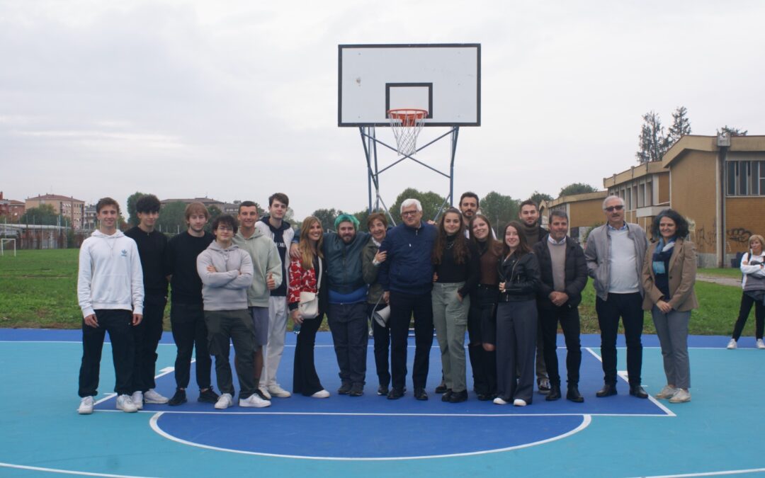
M 141 324 L 133 327 L 135 360 L 133 362 L 133 392 L 146 392 L 157 384 L 154 381 L 157 366 L 157 346 L 162 338 L 162 318 L 168 298 L 164 295 L 147 295 Z

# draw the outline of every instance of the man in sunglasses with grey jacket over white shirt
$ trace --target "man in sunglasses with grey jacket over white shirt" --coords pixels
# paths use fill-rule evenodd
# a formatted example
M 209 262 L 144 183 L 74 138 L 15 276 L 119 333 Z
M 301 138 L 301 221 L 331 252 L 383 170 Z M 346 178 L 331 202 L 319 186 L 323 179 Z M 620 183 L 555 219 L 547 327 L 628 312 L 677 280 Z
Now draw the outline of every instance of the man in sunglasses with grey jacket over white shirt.
M 640 386 L 643 368 L 643 283 L 640 281 L 646 255 L 646 232 L 624 221 L 624 200 L 609 196 L 603 201 L 607 223 L 592 229 L 584 259 L 594 279 L 595 311 L 601 327 L 601 358 L 605 385 L 595 396 L 617 394 L 617 333 L 619 317 L 627 340 L 627 375 L 630 395 L 648 398 Z

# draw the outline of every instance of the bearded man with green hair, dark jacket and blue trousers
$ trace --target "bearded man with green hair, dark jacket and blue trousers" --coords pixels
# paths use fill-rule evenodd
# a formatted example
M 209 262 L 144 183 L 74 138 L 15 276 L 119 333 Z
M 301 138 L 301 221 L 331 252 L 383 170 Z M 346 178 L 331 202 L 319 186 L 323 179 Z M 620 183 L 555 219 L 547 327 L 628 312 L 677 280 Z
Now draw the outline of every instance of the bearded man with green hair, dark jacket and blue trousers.
M 327 322 L 342 382 L 337 393 L 360 397 L 364 393 L 369 340 L 361 254 L 369 242 L 369 233 L 358 232 L 359 219 L 350 214 L 337 216 L 334 227 L 337 232 L 324 235 L 322 249 L 329 284 Z

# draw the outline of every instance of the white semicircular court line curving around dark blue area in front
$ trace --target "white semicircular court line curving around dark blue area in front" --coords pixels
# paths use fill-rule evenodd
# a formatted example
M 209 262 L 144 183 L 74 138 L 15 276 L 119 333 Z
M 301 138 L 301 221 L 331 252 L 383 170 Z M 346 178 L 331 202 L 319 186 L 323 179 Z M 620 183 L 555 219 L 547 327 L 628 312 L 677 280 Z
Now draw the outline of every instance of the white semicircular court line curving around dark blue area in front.
M 175 441 L 180 444 L 185 444 L 190 447 L 200 447 L 200 448 L 206 448 L 207 450 L 217 450 L 217 451 L 226 451 L 229 453 L 238 453 L 238 454 L 246 454 L 246 455 L 258 455 L 261 457 L 280 457 L 280 458 L 294 458 L 296 460 L 333 460 L 333 461 L 390 461 L 390 460 L 428 460 L 431 458 L 445 458 L 445 457 L 470 457 L 473 455 L 483 455 L 483 454 L 490 454 L 490 453 L 499 453 L 503 451 L 509 451 L 509 450 L 519 450 L 521 448 L 527 448 L 527 447 L 533 447 L 535 445 L 545 444 L 552 441 L 558 441 L 562 440 L 565 437 L 570 437 L 571 435 L 578 433 L 579 431 L 584 430 L 584 428 L 587 428 L 589 424 L 592 421 L 592 418 L 590 415 L 578 415 L 582 417 L 581 424 L 577 428 L 574 428 L 573 430 L 567 431 L 565 434 L 560 434 L 557 437 L 547 438 L 545 440 L 535 441 L 533 443 L 527 443 L 522 445 L 517 445 L 515 447 L 506 447 L 506 448 L 496 448 L 494 450 L 481 450 L 481 451 L 471 451 L 468 453 L 455 453 L 455 454 L 444 454 L 444 455 L 425 455 L 422 457 L 379 457 L 379 458 L 360 458 L 360 457 L 302 457 L 300 455 L 286 455 L 286 454 L 270 454 L 270 453 L 260 453 L 256 451 L 245 451 L 245 450 L 231 450 L 229 448 L 222 448 L 222 447 L 212 447 L 210 445 L 203 445 L 194 443 L 191 441 L 185 441 L 181 440 L 181 438 L 174 437 L 171 434 L 166 433 L 164 430 L 159 428 L 159 425 L 157 424 L 158 419 L 164 415 L 164 412 L 160 412 L 153 417 L 151 417 L 151 421 L 149 421 L 149 424 L 151 425 L 151 429 L 157 432 L 157 434 L 161 435 L 162 437 L 167 438 L 168 440 Z

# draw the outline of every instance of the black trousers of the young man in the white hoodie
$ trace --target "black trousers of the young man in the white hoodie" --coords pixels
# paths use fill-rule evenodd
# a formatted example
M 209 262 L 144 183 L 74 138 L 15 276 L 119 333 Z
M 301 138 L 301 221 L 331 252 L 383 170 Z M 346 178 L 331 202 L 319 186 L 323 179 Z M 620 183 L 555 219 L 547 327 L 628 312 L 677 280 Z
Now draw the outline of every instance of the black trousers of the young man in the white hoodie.
M 87 326 L 83 320 L 83 361 L 80 365 L 78 393 L 80 397 L 98 395 L 103 339 L 106 332 L 109 332 L 116 378 L 114 391 L 118 395 L 130 395 L 135 355 L 131 330 L 133 313 L 121 309 L 99 309 L 96 311 L 96 320 L 98 327 Z

